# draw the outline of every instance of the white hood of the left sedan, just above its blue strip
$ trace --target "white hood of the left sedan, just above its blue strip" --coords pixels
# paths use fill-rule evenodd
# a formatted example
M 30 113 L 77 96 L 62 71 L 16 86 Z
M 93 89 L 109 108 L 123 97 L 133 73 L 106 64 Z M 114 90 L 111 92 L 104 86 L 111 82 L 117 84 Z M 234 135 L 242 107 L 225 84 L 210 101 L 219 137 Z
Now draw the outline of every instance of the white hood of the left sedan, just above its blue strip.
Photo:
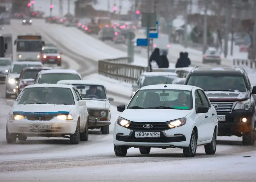
M 13 107 L 12 112 L 70 112 L 74 105 L 61 104 L 18 104 Z

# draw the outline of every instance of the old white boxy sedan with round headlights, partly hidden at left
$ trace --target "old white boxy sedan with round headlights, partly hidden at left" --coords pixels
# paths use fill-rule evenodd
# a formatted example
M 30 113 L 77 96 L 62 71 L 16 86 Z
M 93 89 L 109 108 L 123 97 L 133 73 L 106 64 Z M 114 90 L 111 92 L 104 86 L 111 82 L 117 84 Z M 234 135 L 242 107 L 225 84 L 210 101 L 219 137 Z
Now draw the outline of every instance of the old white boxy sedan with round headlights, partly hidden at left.
M 61 80 L 58 84 L 72 84 L 86 101 L 89 113 L 89 129 L 100 129 L 102 134 L 109 134 L 111 124 L 110 101 L 104 85 L 87 80 Z

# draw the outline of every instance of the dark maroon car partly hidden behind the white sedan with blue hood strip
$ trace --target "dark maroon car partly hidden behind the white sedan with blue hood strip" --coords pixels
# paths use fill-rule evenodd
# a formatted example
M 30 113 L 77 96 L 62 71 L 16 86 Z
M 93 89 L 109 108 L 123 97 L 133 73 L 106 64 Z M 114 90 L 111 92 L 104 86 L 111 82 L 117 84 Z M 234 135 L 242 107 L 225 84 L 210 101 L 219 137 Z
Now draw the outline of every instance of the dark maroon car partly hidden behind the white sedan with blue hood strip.
M 41 70 L 50 70 L 53 69 L 51 67 L 43 67 L 43 68 L 38 68 L 38 67 L 28 67 L 24 68 L 21 73 L 20 77 L 16 80 L 17 84 L 15 87 L 15 93 L 16 93 L 16 98 L 20 94 L 20 92 L 28 85 L 33 85 L 34 80 L 37 76 L 37 73 Z

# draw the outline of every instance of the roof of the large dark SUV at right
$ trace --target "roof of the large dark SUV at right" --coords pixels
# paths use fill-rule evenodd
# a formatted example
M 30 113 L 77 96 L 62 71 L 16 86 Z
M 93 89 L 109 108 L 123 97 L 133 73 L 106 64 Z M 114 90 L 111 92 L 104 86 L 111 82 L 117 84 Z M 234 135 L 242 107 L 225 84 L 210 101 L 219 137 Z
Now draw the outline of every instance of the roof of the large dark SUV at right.
M 193 73 L 234 73 L 241 74 L 243 73 L 243 69 L 240 67 L 196 67 L 192 71 Z

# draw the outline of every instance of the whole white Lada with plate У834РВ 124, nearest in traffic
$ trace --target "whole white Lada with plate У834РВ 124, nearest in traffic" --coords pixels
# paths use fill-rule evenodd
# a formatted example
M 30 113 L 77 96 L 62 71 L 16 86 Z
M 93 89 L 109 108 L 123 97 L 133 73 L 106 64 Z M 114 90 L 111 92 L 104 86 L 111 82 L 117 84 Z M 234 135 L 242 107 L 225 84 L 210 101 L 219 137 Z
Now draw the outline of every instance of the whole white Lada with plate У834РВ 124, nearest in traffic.
M 114 151 L 125 156 L 131 147 L 141 154 L 151 148 L 181 148 L 194 157 L 198 145 L 216 152 L 217 113 L 201 88 L 190 85 L 149 85 L 140 88 L 114 125 Z

